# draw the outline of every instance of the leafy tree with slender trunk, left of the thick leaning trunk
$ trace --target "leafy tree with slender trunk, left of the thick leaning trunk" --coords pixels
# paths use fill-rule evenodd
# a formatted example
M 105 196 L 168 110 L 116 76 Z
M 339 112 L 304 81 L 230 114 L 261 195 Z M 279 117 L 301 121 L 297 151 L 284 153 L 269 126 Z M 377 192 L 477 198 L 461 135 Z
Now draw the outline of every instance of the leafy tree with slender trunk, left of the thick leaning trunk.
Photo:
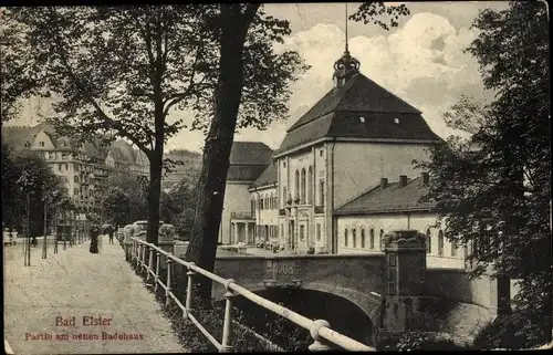
M 6 10 L 13 25 L 4 41 L 3 98 L 55 95 L 53 122 L 60 130 L 81 139 L 91 139 L 92 132 L 124 137 L 143 150 L 149 159 L 149 242 L 157 242 L 164 145 L 184 127 L 167 117 L 174 108 L 194 107 L 194 127 L 211 118 L 204 113 L 212 111 L 219 71 L 217 10 L 216 4 Z M 255 28 L 261 35 L 251 38 L 247 61 L 255 71 L 246 98 L 268 107 L 254 117 L 244 109 L 242 126 L 279 116 L 273 114 L 284 108 L 285 83 L 300 62 L 296 53 L 278 54 L 270 45 L 283 31 L 281 21 L 260 15 Z

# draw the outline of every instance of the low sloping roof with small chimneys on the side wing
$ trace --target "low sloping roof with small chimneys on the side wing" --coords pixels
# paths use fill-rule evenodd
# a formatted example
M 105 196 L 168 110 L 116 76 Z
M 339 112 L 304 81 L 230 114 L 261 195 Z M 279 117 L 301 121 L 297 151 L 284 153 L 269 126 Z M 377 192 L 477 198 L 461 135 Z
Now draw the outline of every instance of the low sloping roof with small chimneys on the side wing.
M 420 178 L 407 179 L 407 185 L 388 184 L 384 189 L 376 186 L 334 210 L 334 215 L 371 215 L 394 211 L 431 210 L 434 203 L 420 199 L 428 194 L 428 186 Z

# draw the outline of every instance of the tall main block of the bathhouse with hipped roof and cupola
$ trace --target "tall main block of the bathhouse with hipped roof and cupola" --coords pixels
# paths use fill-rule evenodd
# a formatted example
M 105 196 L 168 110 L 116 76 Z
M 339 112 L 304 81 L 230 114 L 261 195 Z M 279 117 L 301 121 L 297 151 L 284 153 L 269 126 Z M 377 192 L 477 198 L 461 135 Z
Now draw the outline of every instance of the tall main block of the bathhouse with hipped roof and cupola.
M 420 112 L 358 71 L 346 51 L 334 87 L 286 132 L 278 167 L 283 249 L 344 251 L 334 210 L 379 184 L 416 176 L 413 160 L 441 139 Z

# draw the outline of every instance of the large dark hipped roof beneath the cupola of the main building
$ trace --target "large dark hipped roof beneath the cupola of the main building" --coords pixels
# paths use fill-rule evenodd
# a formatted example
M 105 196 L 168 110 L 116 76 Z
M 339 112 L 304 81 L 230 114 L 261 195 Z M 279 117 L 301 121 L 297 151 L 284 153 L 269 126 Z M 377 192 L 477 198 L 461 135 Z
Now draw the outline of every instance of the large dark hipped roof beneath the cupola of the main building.
M 361 73 L 300 117 L 275 154 L 324 137 L 441 140 L 420 111 Z

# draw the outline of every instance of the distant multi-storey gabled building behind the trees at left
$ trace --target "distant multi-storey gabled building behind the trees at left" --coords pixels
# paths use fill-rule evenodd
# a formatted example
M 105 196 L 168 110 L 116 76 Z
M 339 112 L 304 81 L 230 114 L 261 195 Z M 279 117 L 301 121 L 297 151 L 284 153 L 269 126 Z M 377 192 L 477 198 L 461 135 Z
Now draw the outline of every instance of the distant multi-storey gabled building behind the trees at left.
M 67 196 L 83 212 L 97 208 L 111 175 L 148 174 L 146 156 L 121 139 L 108 147 L 90 143 L 76 146 L 46 123 L 33 127 L 2 126 L 2 139 L 15 149 L 41 154 L 62 180 Z

